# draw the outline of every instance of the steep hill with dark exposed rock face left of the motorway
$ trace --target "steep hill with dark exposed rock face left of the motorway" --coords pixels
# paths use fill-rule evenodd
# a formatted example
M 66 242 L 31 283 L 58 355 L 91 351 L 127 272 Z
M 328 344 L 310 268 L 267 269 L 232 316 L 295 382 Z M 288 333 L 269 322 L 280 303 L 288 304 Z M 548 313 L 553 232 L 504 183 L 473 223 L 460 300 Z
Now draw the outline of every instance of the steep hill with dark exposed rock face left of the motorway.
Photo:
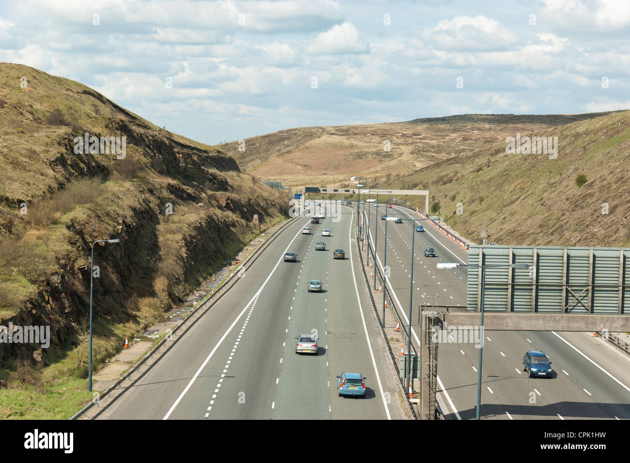
M 77 151 L 85 132 L 126 137 L 125 157 Z M 0 325 L 52 338 L 0 343 L 0 418 L 67 418 L 91 399 L 93 241 L 121 241 L 95 249 L 98 369 L 255 236 L 253 214 L 263 227 L 287 217 L 286 198 L 219 149 L 16 64 L 0 64 L 0 172 Z

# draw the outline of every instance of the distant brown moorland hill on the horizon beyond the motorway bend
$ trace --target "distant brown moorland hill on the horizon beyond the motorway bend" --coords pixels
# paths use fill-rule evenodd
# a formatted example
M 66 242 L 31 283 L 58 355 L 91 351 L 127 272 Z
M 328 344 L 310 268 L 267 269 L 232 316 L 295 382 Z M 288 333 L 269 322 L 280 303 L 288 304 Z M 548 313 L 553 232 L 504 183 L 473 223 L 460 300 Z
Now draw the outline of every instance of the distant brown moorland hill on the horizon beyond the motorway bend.
M 283 185 L 331 185 L 353 175 L 407 174 L 479 149 L 517 132 L 557 127 L 607 113 L 470 114 L 409 122 L 280 130 L 219 145 L 244 171 Z M 389 140 L 389 151 L 385 151 Z M 240 148 L 240 151 L 239 151 Z M 341 177 L 341 179 L 340 179 Z

